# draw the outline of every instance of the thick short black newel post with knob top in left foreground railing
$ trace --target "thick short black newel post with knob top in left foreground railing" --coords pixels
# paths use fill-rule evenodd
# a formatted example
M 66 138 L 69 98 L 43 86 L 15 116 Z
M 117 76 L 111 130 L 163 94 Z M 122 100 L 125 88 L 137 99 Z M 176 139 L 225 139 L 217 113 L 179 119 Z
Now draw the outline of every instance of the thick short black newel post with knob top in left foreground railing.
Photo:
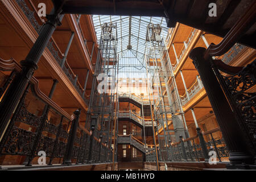
M 79 124 L 81 109 L 74 111 L 74 114 L 75 114 L 75 119 L 73 119 L 73 122 L 71 125 L 71 131 L 69 132 L 69 136 L 68 136 L 67 150 L 65 152 L 64 161 L 63 161 L 63 164 L 68 164 L 68 166 L 72 164 L 72 161 L 71 161 L 72 152 L 73 152 L 73 146 L 76 138 L 77 126 Z

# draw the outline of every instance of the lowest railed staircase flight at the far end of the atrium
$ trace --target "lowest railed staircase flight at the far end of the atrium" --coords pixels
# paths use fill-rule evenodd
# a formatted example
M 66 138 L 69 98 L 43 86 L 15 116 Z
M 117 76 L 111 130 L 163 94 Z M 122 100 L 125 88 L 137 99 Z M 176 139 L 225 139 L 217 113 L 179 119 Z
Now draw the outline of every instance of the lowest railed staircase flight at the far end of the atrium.
M 134 138 L 133 135 L 118 135 L 117 138 L 118 144 L 130 144 L 131 146 L 137 148 L 139 151 L 146 154 L 146 150 L 144 148 L 144 143 Z

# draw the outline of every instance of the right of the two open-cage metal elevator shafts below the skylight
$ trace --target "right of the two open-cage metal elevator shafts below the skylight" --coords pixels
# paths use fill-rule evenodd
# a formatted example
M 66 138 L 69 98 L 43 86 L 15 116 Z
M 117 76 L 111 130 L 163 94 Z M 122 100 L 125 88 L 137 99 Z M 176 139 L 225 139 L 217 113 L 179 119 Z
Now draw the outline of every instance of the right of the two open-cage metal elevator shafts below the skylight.
M 174 76 L 174 69 L 168 55 L 165 39 L 161 36 L 159 24 L 148 24 L 146 32 L 146 69 L 150 79 L 150 97 L 154 105 L 154 117 L 158 123 L 156 132 L 159 141 L 159 158 L 170 160 L 171 142 L 176 142 L 179 135 L 184 136 L 182 119 L 177 115 L 184 114 Z M 170 130 L 170 123 L 174 130 Z M 165 127 L 164 127 L 165 126 Z M 159 130 L 163 135 L 159 135 Z M 175 137 L 174 137 L 175 134 Z M 184 136 L 185 137 L 185 136 Z M 169 151 L 170 150 L 170 151 Z

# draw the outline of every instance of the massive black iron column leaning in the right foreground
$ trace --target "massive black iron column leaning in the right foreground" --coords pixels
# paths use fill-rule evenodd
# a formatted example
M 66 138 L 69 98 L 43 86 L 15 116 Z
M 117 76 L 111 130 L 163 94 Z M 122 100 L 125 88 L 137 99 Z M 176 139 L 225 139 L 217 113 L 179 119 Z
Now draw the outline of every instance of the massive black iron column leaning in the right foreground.
M 231 166 L 227 167 L 234 167 L 236 164 L 253 163 L 253 156 L 247 152 L 246 139 L 214 75 L 210 60 L 204 59 L 205 51 L 206 49 L 203 47 L 194 48 L 189 57 L 193 60 L 193 64 L 199 72 L 226 146 L 229 149 Z

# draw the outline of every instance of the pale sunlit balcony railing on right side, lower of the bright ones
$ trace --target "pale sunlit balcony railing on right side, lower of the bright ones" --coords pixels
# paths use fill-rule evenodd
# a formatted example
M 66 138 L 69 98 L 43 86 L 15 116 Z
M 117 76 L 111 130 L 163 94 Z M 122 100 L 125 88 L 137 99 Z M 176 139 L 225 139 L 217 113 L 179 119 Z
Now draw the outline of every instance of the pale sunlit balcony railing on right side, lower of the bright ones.
M 201 81 L 201 78 L 197 76 L 196 81 L 193 82 L 192 86 L 188 89 L 188 96 L 187 92 L 185 92 L 183 96 L 180 96 L 181 104 L 187 104 L 188 101 L 191 100 L 191 98 L 193 98 L 202 88 L 204 88 L 203 82 Z

